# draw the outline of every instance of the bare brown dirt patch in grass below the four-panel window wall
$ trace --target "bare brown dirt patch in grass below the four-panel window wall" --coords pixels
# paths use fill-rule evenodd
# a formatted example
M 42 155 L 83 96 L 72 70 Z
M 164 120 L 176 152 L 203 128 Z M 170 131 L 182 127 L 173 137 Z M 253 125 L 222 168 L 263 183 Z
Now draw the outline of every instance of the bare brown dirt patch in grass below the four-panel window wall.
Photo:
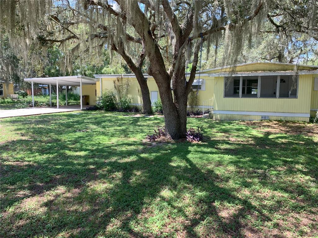
M 287 133 L 291 135 L 318 135 L 318 126 L 312 123 L 277 122 L 277 121 L 244 121 L 240 124 L 252 126 L 260 131 L 271 134 Z

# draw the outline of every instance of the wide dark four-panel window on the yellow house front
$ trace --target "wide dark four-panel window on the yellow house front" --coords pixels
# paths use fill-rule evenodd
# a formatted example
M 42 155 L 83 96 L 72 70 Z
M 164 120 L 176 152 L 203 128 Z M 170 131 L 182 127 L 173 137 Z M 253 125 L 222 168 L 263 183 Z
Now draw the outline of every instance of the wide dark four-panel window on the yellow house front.
M 224 78 L 225 97 L 296 98 L 297 88 L 298 77 L 294 75 Z

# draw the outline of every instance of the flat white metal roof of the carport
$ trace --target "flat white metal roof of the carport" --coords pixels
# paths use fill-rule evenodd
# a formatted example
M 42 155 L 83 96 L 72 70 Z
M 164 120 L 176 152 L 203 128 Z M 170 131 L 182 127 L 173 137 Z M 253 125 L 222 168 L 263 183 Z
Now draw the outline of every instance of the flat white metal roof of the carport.
M 80 86 L 80 79 L 82 79 L 82 85 L 96 84 L 98 79 L 87 76 L 63 76 L 63 77 L 46 77 L 46 78 L 25 78 L 24 81 L 42 84 L 56 85 L 58 81 L 59 85 L 67 86 Z

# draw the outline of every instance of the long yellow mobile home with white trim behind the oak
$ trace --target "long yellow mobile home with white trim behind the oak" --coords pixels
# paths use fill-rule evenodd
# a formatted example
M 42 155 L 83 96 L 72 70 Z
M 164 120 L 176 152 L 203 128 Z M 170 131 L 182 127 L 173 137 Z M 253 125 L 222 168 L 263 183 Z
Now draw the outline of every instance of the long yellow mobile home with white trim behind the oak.
M 297 71 L 295 71 L 297 69 Z M 117 77 L 129 79 L 129 97 L 133 105 L 141 105 L 138 82 L 134 74 L 94 75 L 96 94 L 115 92 Z M 159 97 L 155 80 L 148 80 L 151 102 Z M 318 66 L 290 63 L 252 62 L 196 74 L 192 84 L 198 90 L 196 108 L 213 109 L 216 120 L 289 120 L 309 121 L 318 110 Z M 212 111 L 212 110 L 211 110 Z

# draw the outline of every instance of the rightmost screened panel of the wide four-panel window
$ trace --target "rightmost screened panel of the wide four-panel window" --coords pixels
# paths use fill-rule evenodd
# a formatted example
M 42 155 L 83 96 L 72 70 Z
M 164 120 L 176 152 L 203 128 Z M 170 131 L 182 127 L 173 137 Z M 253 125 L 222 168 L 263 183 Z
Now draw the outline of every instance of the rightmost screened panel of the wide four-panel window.
M 280 76 L 279 97 L 297 96 L 298 76 L 286 75 Z

